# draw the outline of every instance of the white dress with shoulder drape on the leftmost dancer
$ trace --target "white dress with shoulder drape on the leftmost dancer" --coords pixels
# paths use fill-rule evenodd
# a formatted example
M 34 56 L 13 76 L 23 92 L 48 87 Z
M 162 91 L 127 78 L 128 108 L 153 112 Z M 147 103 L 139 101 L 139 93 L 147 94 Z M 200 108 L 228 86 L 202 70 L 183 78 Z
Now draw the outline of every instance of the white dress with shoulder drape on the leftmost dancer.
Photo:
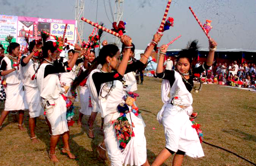
M 2 59 L 6 62 L 6 70 L 12 69 L 12 61 L 8 57 Z M 25 94 L 23 90 L 23 83 L 21 81 L 19 71 L 15 70 L 4 76 L 7 86 L 4 88 L 6 93 L 6 100 L 4 104 L 4 111 L 15 111 L 27 109 Z

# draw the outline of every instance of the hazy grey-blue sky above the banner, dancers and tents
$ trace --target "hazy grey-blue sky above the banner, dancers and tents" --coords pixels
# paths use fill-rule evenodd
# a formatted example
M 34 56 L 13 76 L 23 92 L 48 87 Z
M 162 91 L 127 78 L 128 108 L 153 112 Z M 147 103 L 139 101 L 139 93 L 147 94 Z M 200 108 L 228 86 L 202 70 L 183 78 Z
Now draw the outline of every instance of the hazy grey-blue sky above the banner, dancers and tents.
M 85 0 L 84 18 L 102 21 L 111 29 L 115 0 Z M 124 0 L 123 21 L 126 33 L 136 49 L 145 49 L 157 32 L 167 0 Z M 198 39 L 201 48 L 207 48 L 208 39 L 189 10 L 192 7 L 202 24 L 212 20 L 210 36 L 218 48 L 256 49 L 256 0 L 173 0 L 167 17 L 174 18 L 174 26 L 163 32 L 159 46 L 179 35 L 168 49 L 185 48 L 188 41 Z M 112 9 L 112 12 L 111 12 Z M 112 14 L 111 14 L 112 13 Z M 74 19 L 75 0 L 0 0 L 0 14 L 54 19 Z M 113 15 L 113 17 L 112 17 Z M 84 23 L 87 38 L 93 26 Z M 105 33 L 102 41 L 112 42 Z

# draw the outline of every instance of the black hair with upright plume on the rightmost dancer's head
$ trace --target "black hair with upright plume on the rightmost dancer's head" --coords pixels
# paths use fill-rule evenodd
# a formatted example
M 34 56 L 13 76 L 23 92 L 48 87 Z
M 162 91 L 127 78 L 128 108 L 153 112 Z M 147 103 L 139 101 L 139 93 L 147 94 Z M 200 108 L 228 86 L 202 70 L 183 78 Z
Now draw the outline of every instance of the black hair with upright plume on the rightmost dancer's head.
M 198 49 L 198 40 L 193 40 L 192 42 L 189 42 L 187 48 L 182 49 L 178 53 L 177 61 L 179 61 L 180 58 L 188 58 L 191 67 L 193 59 L 198 56 Z

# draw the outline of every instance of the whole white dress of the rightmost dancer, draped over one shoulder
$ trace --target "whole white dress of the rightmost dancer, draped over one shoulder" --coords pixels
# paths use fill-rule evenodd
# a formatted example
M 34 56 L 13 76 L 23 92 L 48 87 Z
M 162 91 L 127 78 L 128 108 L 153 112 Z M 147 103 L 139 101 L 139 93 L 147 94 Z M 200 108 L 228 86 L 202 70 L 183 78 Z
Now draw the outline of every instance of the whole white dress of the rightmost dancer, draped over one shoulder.
M 170 92 L 170 98 L 168 92 Z M 168 80 L 163 80 L 161 95 L 164 105 L 157 119 L 164 126 L 166 148 L 174 152 L 181 150 L 193 158 L 203 157 L 204 152 L 198 134 L 196 129 L 192 128 L 190 121 L 193 98 L 178 72 L 175 71 L 175 81 L 172 87 Z M 173 105 L 170 104 L 172 99 Z M 187 106 L 187 108 L 182 109 L 177 105 Z

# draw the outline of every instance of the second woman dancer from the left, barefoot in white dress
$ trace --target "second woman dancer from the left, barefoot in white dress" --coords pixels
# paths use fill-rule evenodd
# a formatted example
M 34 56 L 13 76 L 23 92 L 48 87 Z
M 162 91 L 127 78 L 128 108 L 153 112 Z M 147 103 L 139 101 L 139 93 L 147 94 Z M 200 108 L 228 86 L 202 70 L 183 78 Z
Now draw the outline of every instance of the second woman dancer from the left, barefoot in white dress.
M 30 139 L 32 143 L 37 142 L 35 136 L 36 117 L 43 115 L 43 108 L 40 104 L 40 94 L 37 88 L 36 80 L 32 79 L 35 71 L 39 66 L 40 55 L 37 51 L 41 49 L 42 44 L 43 43 L 41 41 L 31 41 L 29 43 L 30 54 L 22 56 L 20 60 L 20 75 L 24 84 L 25 97 L 29 111 L 28 124 L 30 128 Z

